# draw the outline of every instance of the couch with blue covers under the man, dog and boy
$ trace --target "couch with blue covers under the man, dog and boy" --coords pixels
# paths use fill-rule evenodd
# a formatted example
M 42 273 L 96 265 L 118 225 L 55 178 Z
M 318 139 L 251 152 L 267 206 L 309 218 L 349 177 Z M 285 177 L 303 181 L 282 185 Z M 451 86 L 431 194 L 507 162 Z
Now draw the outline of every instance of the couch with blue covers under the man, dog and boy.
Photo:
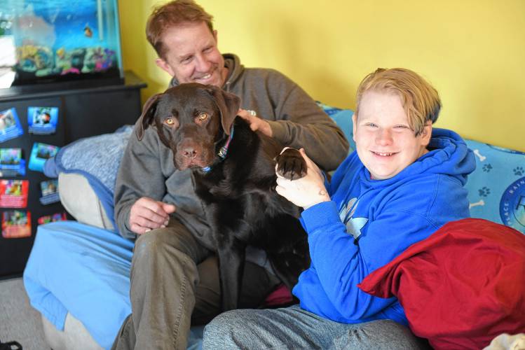
M 353 151 L 353 112 L 320 106 L 345 132 Z M 46 174 L 58 178 L 60 200 L 76 221 L 39 226 L 24 283 L 55 350 L 109 349 L 130 313 L 133 243 L 116 232 L 112 193 L 131 132 L 128 125 L 81 139 L 46 162 Z M 525 153 L 467 143 L 477 162 L 466 186 L 471 216 L 525 233 Z M 202 330 L 191 329 L 189 349 L 200 347 Z

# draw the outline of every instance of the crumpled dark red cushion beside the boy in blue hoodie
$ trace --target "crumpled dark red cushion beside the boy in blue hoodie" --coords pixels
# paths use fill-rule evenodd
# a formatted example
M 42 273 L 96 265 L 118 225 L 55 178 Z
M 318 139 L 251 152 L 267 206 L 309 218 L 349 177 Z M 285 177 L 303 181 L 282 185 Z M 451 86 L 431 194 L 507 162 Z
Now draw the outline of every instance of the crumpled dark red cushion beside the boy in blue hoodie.
M 414 334 L 436 349 L 482 349 L 525 332 L 525 235 L 482 219 L 444 225 L 359 288 L 397 296 Z

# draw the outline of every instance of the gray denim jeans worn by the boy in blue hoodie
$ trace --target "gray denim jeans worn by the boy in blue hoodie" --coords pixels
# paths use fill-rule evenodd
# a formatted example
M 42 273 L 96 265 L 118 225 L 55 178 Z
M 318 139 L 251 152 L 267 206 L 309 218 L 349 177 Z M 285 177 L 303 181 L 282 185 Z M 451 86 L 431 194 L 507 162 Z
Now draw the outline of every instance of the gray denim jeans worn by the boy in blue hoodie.
M 234 310 L 204 329 L 203 349 L 425 349 L 428 344 L 390 320 L 346 324 L 298 305 Z

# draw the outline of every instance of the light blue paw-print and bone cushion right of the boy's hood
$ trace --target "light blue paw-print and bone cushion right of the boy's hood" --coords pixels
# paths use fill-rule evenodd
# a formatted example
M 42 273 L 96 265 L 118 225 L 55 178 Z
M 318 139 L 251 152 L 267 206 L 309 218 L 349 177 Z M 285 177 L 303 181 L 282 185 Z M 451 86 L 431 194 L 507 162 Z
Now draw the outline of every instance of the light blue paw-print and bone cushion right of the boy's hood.
M 468 177 L 470 216 L 525 234 L 525 153 L 465 140 L 476 156 Z

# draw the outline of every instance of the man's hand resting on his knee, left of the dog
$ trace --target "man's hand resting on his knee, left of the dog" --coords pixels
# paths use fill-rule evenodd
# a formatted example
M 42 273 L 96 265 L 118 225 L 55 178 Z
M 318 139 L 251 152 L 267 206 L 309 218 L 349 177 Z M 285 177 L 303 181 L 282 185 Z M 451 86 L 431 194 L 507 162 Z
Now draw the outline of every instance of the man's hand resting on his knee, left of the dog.
M 138 235 L 165 228 L 170 221 L 170 214 L 175 211 L 175 205 L 158 202 L 149 197 L 141 197 L 130 210 L 130 230 Z

